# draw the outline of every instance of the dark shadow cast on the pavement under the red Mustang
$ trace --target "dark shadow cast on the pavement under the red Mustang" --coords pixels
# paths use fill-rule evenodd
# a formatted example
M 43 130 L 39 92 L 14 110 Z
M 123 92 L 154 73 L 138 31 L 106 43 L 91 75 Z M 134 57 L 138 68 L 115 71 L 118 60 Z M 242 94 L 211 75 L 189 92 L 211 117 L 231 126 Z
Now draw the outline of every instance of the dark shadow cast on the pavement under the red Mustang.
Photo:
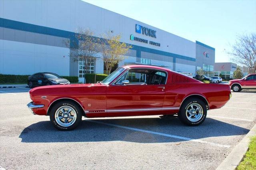
M 158 134 L 140 132 L 111 125 L 102 125 L 96 123 L 96 121 L 193 139 L 212 136 L 243 135 L 249 132 L 249 129 L 211 118 L 207 118 L 202 125 L 197 127 L 183 125 L 176 117 L 90 120 L 93 120 L 94 122 L 84 120 L 81 122 L 79 127 L 71 131 L 60 131 L 54 128 L 50 121 L 41 121 L 24 128 L 19 137 L 22 138 L 22 142 L 128 141 L 139 143 L 158 143 L 183 141 L 182 139 L 171 138 Z

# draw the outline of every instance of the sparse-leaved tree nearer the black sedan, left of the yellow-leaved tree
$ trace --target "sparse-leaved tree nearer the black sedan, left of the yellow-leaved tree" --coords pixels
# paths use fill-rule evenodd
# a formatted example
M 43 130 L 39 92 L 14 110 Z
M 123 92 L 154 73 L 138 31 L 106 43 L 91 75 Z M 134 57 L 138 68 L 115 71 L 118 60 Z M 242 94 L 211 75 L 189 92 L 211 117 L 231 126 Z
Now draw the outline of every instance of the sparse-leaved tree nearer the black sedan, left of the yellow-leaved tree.
M 71 41 L 71 42 L 70 42 Z M 89 29 L 79 28 L 73 38 L 66 41 L 66 45 L 70 46 L 72 53 L 70 57 L 74 61 L 82 61 L 84 71 L 84 83 L 86 83 L 85 75 L 89 73 L 90 65 L 99 51 L 99 39 L 93 36 L 93 32 Z

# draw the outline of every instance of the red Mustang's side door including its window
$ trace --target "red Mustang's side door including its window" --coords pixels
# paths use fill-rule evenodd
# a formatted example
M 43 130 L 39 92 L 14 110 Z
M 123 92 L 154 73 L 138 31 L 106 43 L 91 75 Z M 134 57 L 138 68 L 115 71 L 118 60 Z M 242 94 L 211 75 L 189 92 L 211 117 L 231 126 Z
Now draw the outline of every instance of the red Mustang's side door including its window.
M 127 112 L 154 112 L 162 109 L 167 73 L 145 69 L 131 69 L 107 88 L 107 110 L 116 115 Z M 129 80 L 129 84 L 122 81 Z M 122 113 L 126 114 L 122 114 Z M 150 114 L 154 114 L 150 113 Z M 134 114 L 132 114 L 134 115 Z

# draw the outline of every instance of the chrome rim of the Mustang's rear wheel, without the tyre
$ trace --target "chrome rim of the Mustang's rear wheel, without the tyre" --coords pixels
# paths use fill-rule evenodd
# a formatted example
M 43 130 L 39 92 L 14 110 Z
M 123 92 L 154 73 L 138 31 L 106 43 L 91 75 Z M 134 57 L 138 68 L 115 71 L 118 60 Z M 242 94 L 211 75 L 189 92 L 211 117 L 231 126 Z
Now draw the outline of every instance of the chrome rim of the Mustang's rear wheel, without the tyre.
M 199 121 L 203 116 L 204 110 L 201 105 L 198 103 L 192 103 L 190 104 L 186 109 L 186 116 L 189 121 L 191 122 L 197 122 Z

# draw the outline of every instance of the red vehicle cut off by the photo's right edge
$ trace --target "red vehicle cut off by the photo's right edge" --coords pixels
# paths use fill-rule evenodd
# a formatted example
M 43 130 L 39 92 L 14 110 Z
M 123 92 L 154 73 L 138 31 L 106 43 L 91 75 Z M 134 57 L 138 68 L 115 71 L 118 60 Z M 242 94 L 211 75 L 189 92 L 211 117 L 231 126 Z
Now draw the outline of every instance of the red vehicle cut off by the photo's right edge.
M 256 74 L 249 74 L 242 79 L 228 81 L 228 85 L 234 92 L 239 92 L 242 89 L 256 89 Z

